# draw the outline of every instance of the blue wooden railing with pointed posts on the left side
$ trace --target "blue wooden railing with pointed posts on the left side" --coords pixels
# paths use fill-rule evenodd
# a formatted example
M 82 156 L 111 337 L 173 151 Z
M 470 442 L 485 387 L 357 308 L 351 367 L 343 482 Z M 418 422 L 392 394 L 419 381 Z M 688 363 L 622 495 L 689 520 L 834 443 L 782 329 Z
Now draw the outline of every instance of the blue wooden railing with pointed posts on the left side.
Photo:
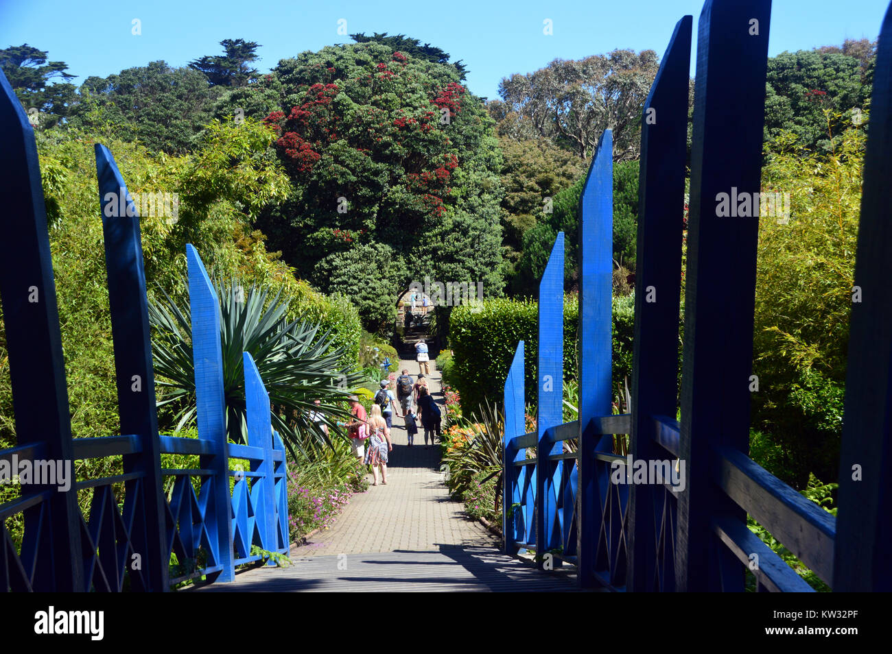
M 120 475 L 81 479 L 66 491 L 22 485 L 18 499 L 0 504 L 0 590 L 166 591 L 194 576 L 232 581 L 235 566 L 261 558 L 252 555 L 252 545 L 287 552 L 285 447 L 270 426 L 267 391 L 248 353 L 249 443 L 227 442 L 219 302 L 192 246 L 186 257 L 198 438 L 158 433 L 136 210 L 120 217 L 100 210 L 121 435 L 72 438 L 34 133 L 2 72 L 0 86 L 0 293 L 18 442 L 0 451 L 0 462 L 62 462 L 73 481 L 75 461 L 123 459 Z M 120 199 L 133 209 L 111 152 L 102 145 L 95 150 L 100 209 Z M 196 454 L 199 468 L 161 468 L 161 454 Z M 229 470 L 230 458 L 249 465 Z M 163 492 L 165 480 L 169 493 Z M 87 513 L 78 507 L 78 492 L 90 494 Z M 24 523 L 21 544 L 13 543 L 6 527 L 6 519 L 18 517 Z M 169 575 L 171 554 L 182 570 L 176 578 Z

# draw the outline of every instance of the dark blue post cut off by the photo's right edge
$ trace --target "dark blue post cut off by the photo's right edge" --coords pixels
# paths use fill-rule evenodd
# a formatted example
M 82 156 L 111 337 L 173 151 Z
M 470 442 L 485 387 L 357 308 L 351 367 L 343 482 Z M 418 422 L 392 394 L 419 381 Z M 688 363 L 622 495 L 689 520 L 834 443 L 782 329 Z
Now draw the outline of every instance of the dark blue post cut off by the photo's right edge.
M 892 4 L 880 31 L 839 463 L 834 591 L 892 591 Z

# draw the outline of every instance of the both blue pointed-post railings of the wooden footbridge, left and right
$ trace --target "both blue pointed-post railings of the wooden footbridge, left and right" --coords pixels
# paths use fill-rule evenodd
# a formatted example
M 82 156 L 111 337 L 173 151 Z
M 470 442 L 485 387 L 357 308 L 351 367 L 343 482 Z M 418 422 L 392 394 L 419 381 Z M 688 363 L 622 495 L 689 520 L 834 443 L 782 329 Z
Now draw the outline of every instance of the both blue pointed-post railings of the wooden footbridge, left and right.
M 631 413 L 611 410 L 609 130 L 581 200 L 578 421 L 562 418 L 564 234 L 541 280 L 538 350 L 529 359 L 538 392 L 533 433 L 524 433 L 526 353 L 516 344 L 504 396 L 504 548 L 533 552 L 545 570 L 574 566 L 583 588 L 741 591 L 748 570 L 758 590 L 810 591 L 749 531 L 749 515 L 834 590 L 892 590 L 892 10 L 880 32 L 864 161 L 855 266 L 862 293 L 852 306 L 838 518 L 747 455 L 758 218 L 720 217 L 715 202 L 732 189 L 750 198 L 761 190 L 770 12 L 769 0 L 707 0 L 700 16 L 681 420 L 690 16 L 675 26 L 642 113 Z M 191 247 L 199 437 L 158 432 L 136 211 L 103 218 L 122 435 L 72 438 L 34 135 L 2 74 L 0 86 L 0 292 L 18 437 L 0 462 L 73 468 L 75 460 L 123 457 L 120 475 L 67 491 L 25 485 L 0 504 L 0 589 L 165 591 L 200 575 L 220 584 L 234 579 L 235 566 L 260 559 L 252 545 L 287 552 L 285 451 L 270 427 L 268 396 L 245 353 L 249 444 L 227 443 L 218 300 Z M 100 206 L 108 193 L 127 197 L 101 145 L 96 169 Z M 628 457 L 614 451 L 617 434 L 630 436 Z M 161 454 L 197 454 L 200 467 L 162 468 Z M 247 459 L 250 470 L 229 470 L 230 457 Z M 87 517 L 78 491 L 92 493 Z M 21 543 L 5 526 L 16 517 Z M 170 578 L 171 554 L 183 565 L 178 578 Z

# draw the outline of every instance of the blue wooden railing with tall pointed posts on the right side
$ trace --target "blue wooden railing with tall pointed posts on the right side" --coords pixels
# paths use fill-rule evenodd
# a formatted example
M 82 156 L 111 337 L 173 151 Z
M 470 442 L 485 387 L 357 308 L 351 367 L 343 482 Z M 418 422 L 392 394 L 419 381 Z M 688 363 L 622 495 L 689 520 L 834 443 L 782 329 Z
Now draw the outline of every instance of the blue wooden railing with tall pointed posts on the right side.
M 611 414 L 609 130 L 580 201 L 579 420 L 563 423 L 560 410 L 563 233 L 540 286 L 533 433 L 524 433 L 523 342 L 508 371 L 506 552 L 535 552 L 543 568 L 572 563 L 582 586 L 740 591 L 749 569 L 760 591 L 811 591 L 749 531 L 749 514 L 834 590 L 892 590 L 892 7 L 864 162 L 855 267 L 862 298 L 852 309 L 838 519 L 747 456 L 758 218 L 718 217 L 715 206 L 718 193 L 760 191 L 770 12 L 769 0 L 707 0 L 700 15 L 681 422 L 690 16 L 675 26 L 641 116 L 631 413 Z M 630 436 L 631 469 L 614 452 L 615 434 Z M 650 483 L 634 483 L 638 462 L 653 470 Z M 683 488 L 673 487 L 673 473 Z

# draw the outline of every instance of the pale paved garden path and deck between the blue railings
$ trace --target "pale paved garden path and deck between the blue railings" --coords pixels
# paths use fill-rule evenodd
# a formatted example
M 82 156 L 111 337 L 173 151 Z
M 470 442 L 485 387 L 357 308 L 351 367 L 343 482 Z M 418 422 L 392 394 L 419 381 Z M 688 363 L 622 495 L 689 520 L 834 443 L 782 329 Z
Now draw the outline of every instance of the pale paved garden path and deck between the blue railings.
M 416 376 L 418 364 L 401 360 Z M 440 374 L 431 362 L 430 387 L 442 405 Z M 439 447 L 424 432 L 409 446 L 394 417 L 387 485 L 353 495 L 335 524 L 292 546 L 290 568 L 253 568 L 233 584 L 203 592 L 250 591 L 573 591 L 571 571 L 546 573 L 500 552 L 500 540 L 450 500 Z

